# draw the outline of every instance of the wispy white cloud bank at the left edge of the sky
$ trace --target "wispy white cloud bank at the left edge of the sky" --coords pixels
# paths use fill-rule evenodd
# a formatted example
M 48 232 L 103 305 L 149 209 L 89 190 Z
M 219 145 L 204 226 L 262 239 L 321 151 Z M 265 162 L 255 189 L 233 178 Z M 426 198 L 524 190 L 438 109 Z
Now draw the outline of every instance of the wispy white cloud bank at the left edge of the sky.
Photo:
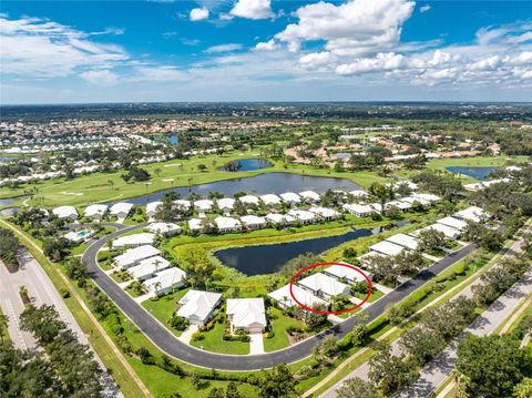
M 44 19 L 10 20 L 0 16 L 2 73 L 64 76 L 79 69 L 110 68 L 129 59 L 121 47 L 91 41 L 91 34 Z

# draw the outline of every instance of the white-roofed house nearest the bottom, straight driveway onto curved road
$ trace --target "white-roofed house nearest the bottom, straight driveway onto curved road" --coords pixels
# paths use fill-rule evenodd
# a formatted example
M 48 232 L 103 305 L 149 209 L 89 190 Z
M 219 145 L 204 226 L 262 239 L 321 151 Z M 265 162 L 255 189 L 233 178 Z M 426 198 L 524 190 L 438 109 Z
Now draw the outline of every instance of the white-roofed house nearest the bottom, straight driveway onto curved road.
M 226 313 L 232 331 L 260 333 L 267 325 L 263 298 L 229 298 Z

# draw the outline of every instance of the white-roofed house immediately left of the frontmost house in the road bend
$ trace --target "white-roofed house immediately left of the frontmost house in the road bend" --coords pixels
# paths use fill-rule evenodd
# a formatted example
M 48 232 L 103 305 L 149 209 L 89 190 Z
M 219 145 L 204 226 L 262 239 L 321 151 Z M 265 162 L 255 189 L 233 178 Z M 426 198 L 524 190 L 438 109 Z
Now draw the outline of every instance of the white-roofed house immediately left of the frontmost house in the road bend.
M 204 325 L 222 299 L 221 293 L 191 289 L 177 302 L 177 315 L 192 325 Z

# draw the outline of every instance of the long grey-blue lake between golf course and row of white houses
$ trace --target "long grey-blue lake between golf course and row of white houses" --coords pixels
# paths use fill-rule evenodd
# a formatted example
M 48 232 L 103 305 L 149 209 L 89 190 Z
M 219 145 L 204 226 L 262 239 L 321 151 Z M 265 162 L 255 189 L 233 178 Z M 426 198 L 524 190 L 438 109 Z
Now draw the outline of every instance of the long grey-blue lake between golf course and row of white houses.
M 253 177 L 218 181 L 215 183 L 200 184 L 192 186 L 181 186 L 176 188 L 163 190 L 152 194 L 132 197 L 126 200 L 129 203 L 145 205 L 150 202 L 162 201 L 167 192 L 176 192 L 181 197 L 186 197 L 191 193 L 207 195 L 209 192 L 219 192 L 225 196 L 233 197 L 237 192 L 264 194 L 282 194 L 287 191 L 316 191 L 325 193 L 327 190 L 360 190 L 360 186 L 347 178 L 337 177 L 316 177 L 293 173 L 265 173 Z

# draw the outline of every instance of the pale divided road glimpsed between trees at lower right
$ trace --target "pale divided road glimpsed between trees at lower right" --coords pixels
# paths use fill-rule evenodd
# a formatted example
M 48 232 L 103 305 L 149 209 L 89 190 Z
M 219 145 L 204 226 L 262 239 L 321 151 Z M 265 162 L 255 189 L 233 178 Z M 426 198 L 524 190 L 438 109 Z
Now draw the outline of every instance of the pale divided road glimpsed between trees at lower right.
M 522 241 L 516 241 L 511 248 L 508 251 L 505 256 L 514 255 L 521 249 Z M 480 280 L 474 280 L 469 285 L 460 296 L 471 297 L 472 289 L 471 287 L 479 284 Z M 494 330 L 499 324 L 505 319 L 508 314 L 510 314 L 513 308 L 515 308 L 519 303 L 532 293 L 532 272 L 529 272 L 521 282 L 512 286 L 504 295 L 499 297 L 481 316 L 479 316 L 469 327 L 466 329 L 467 333 L 473 333 L 479 336 Z M 391 344 L 392 353 L 400 354 L 399 344 L 396 340 Z M 447 377 L 450 375 L 456 363 L 456 349 L 457 344 L 453 343 L 447 347 L 433 361 L 428 364 L 421 370 L 420 378 L 408 389 L 402 391 L 399 397 L 402 398 L 412 398 L 412 397 L 429 397 L 441 382 L 443 382 Z M 367 380 L 369 373 L 369 365 L 365 363 L 348 376 L 342 378 L 323 395 L 320 398 L 334 398 L 337 396 L 336 390 L 346 381 L 347 379 L 359 377 Z

